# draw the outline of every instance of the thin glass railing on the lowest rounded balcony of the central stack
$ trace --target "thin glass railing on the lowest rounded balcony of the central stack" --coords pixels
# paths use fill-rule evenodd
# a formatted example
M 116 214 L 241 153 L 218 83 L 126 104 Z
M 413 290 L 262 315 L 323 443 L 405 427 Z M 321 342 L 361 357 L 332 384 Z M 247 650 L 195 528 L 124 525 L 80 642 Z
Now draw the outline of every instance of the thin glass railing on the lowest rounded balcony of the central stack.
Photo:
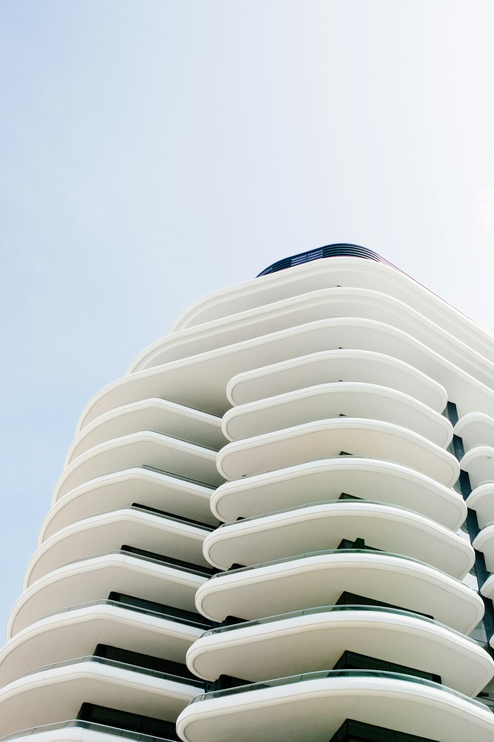
M 212 691 L 209 693 L 202 693 L 196 696 L 192 703 L 198 703 L 201 700 L 209 700 L 213 698 L 220 698 L 222 696 L 236 695 L 238 693 L 250 693 L 251 691 L 258 691 L 267 688 L 276 688 L 279 686 L 290 686 L 295 683 L 304 683 L 307 680 L 323 680 L 324 678 L 336 679 L 338 677 L 346 678 L 358 678 L 358 677 L 373 677 L 383 678 L 383 680 L 405 680 L 407 683 L 418 683 L 421 686 L 432 688 L 435 691 L 442 691 L 448 695 L 453 695 L 461 699 L 462 703 L 473 703 L 474 706 L 478 706 L 481 709 L 485 709 L 484 703 L 478 700 L 473 700 L 463 693 L 454 691 L 447 686 L 441 686 L 439 683 L 434 683 L 433 680 L 426 680 L 416 675 L 406 675 L 399 672 L 389 672 L 387 670 L 319 670 L 318 672 L 304 672 L 301 675 L 290 675 L 290 677 L 277 677 L 274 680 L 263 680 L 261 683 L 249 683 L 245 686 L 236 686 L 234 688 L 228 688 L 220 691 Z

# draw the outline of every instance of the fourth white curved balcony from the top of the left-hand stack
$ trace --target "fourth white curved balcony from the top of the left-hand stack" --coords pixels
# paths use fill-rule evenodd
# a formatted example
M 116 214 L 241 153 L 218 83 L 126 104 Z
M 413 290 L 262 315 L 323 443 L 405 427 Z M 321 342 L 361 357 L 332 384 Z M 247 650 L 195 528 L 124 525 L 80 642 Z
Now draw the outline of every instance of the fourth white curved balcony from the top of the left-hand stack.
M 175 559 L 207 567 L 202 544 L 210 531 L 205 526 L 133 506 L 99 513 L 68 525 L 41 544 L 27 565 L 22 589 L 68 562 L 113 551 L 122 544 L 155 554 L 166 551 Z

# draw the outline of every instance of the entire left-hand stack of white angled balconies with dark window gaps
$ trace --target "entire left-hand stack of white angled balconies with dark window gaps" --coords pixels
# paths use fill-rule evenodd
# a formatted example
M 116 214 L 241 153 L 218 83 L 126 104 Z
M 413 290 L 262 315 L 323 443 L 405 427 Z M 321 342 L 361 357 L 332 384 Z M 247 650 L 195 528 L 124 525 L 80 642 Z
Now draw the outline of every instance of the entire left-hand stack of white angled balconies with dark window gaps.
M 79 431 L 0 654 L 4 734 L 176 738 L 204 689 L 185 659 L 210 628 L 195 595 L 224 442 L 221 420 L 161 397 Z

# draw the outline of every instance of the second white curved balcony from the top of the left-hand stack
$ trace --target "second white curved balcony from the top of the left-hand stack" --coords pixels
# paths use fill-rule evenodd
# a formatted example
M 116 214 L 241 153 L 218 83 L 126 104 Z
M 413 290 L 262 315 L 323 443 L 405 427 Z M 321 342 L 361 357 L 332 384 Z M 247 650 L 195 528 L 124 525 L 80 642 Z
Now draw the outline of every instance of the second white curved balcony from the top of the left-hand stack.
M 101 443 L 79 456 L 56 483 L 52 505 L 90 479 L 142 464 L 171 474 L 186 473 L 213 487 L 223 482 L 216 471 L 215 451 L 146 430 Z

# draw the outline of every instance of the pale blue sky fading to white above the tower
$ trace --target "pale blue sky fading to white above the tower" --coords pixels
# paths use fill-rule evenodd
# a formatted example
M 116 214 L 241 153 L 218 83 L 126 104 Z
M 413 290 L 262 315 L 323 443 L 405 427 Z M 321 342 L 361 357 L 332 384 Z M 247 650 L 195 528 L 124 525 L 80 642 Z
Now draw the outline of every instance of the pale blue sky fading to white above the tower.
M 0 623 L 84 405 L 348 241 L 494 328 L 492 0 L 1 0 Z

